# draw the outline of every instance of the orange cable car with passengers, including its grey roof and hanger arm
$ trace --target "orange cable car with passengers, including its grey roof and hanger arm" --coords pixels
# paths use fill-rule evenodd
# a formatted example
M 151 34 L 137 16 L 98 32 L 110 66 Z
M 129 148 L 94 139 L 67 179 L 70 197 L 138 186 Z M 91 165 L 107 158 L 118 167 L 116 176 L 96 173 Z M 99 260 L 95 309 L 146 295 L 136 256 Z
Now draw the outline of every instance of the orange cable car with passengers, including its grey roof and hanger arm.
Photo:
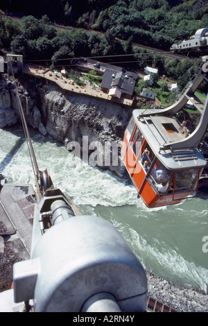
M 203 105 L 196 90 L 208 82 L 208 56 L 198 74 L 187 84 L 180 99 L 166 109 L 134 110 L 123 137 L 123 164 L 137 189 L 137 197 L 148 207 L 161 207 L 193 198 L 207 164 L 200 142 L 208 123 L 208 96 Z M 200 112 L 197 128 L 190 134 L 177 113 L 188 101 Z

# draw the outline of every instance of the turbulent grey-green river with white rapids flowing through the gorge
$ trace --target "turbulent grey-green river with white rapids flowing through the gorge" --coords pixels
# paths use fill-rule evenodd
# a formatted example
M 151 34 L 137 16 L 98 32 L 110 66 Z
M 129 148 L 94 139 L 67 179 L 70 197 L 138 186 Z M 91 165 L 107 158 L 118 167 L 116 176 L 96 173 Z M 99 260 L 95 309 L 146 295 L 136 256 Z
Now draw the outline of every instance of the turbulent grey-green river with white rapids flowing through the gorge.
M 39 169 L 48 169 L 59 187 L 83 214 L 110 221 L 132 247 L 144 268 L 178 286 L 206 291 L 208 196 L 179 205 L 146 207 L 128 180 L 102 171 L 71 155 L 64 145 L 30 130 Z M 34 184 L 31 159 L 21 126 L 0 129 L 0 170 L 8 182 Z

